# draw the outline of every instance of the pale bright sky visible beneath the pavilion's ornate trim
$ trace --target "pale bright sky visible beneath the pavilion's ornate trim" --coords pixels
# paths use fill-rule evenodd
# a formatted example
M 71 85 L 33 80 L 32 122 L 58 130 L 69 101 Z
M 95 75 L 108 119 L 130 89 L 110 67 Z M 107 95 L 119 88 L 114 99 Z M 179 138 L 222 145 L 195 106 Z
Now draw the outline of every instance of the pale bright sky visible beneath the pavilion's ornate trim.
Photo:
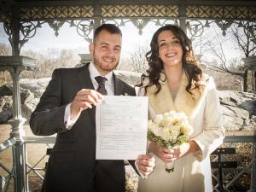
M 137 46 L 146 46 L 149 49 L 149 44 L 154 32 L 160 26 L 155 26 L 153 22 L 149 22 L 147 26 L 143 28 L 143 34 L 139 35 L 136 26 L 133 26 L 131 22 L 127 22 L 125 26 L 121 26 L 120 29 L 123 32 L 123 44 L 121 58 L 125 58 L 134 51 Z M 218 27 L 206 28 L 201 38 L 206 40 L 212 37 L 214 32 L 221 32 Z M 224 41 L 224 51 L 228 59 L 239 55 L 237 49 L 234 48 L 234 43 L 229 41 L 229 38 Z M 0 23 L 0 43 L 9 44 L 8 37 L 3 30 L 3 24 Z M 34 37 L 30 38 L 29 41 L 22 47 L 23 50 L 32 49 L 37 52 L 44 52 L 49 48 L 56 49 L 75 49 L 78 54 L 89 53 L 89 43 L 84 40 L 83 37 L 79 36 L 76 31 L 76 27 L 70 27 L 69 24 L 64 24 L 59 30 L 58 37 L 55 37 L 55 31 L 49 27 L 48 24 L 44 24 L 43 27 L 37 29 L 37 33 Z M 195 54 L 201 49 L 199 45 L 195 48 Z M 209 55 L 205 54 L 204 58 L 209 58 Z

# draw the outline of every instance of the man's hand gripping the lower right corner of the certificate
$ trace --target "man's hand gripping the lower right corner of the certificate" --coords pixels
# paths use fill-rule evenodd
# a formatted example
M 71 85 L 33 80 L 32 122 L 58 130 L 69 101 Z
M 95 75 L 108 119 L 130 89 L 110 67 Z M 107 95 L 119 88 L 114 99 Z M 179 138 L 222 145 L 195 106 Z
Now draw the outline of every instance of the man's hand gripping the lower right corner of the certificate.
M 153 168 L 155 166 L 155 159 L 150 154 L 141 154 L 137 157 L 136 165 L 140 173 L 143 176 L 148 176 L 151 172 L 153 172 Z

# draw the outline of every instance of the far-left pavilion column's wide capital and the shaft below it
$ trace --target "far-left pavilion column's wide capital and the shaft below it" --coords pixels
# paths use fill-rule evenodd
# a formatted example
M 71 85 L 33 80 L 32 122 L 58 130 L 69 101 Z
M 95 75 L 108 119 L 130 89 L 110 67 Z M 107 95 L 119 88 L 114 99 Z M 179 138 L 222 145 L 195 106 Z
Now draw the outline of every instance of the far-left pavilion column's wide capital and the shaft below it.
M 25 136 L 25 118 L 21 116 L 20 108 L 20 73 L 24 70 L 32 70 L 35 60 L 26 56 L 1 56 L 0 71 L 8 70 L 13 79 L 13 118 L 8 123 L 12 125 L 10 138 L 15 139 L 13 146 L 13 166 L 15 168 L 14 188 L 15 192 L 28 191 L 25 187 L 26 161 L 23 151 L 23 137 Z

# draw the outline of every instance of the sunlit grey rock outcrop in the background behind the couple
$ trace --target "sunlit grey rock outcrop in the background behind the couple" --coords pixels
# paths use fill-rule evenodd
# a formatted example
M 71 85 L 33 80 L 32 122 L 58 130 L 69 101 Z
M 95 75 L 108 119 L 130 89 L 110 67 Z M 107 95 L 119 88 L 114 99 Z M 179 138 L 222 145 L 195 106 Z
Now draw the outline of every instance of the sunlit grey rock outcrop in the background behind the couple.
M 115 74 L 128 84 L 140 83 L 139 73 L 116 71 Z M 49 78 L 20 80 L 21 111 L 23 117 L 29 120 L 48 83 Z M 9 110 L 12 108 L 11 95 L 12 85 L 7 84 L 0 88 L 0 123 L 4 123 L 3 121 L 7 120 L 7 117 L 11 118 L 11 110 Z M 224 127 L 227 131 L 253 131 L 256 128 L 256 93 L 219 90 L 218 95 L 223 111 Z M 9 112 L 5 112 L 6 110 L 9 110 Z M 3 119 L 1 119 L 3 112 Z

